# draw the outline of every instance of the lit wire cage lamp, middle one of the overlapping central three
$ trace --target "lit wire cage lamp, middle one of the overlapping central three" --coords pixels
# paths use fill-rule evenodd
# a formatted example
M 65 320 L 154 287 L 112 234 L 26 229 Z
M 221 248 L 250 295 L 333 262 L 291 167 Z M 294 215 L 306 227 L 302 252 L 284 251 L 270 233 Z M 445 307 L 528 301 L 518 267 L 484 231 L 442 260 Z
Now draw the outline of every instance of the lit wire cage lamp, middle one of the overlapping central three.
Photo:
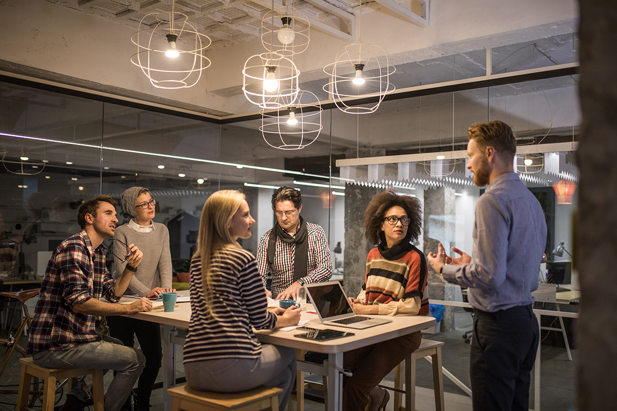
M 242 69 L 242 91 L 261 108 L 281 108 L 298 97 L 300 71 L 292 60 L 267 52 L 249 57 Z

